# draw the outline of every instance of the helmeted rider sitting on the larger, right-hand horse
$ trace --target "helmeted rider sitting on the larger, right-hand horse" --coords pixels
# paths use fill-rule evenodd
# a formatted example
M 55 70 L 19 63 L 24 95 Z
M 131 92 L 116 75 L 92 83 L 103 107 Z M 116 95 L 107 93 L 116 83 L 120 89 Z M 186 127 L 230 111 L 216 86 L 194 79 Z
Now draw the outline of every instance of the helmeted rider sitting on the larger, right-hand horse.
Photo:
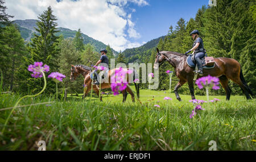
M 193 43 L 193 48 L 190 49 L 189 51 L 187 51 L 185 53 L 185 55 L 187 55 L 188 53 L 193 51 L 192 54 L 195 55 L 196 64 L 197 64 L 197 67 L 199 68 L 199 70 L 197 72 L 196 72 L 196 70 L 193 72 L 198 73 L 200 76 L 203 76 L 203 65 L 202 65 L 202 61 L 201 61 L 201 59 L 203 59 L 205 56 L 203 39 L 201 39 L 199 37 L 198 30 L 193 30 L 191 32 L 190 36 L 192 36 L 192 39 L 195 41 Z

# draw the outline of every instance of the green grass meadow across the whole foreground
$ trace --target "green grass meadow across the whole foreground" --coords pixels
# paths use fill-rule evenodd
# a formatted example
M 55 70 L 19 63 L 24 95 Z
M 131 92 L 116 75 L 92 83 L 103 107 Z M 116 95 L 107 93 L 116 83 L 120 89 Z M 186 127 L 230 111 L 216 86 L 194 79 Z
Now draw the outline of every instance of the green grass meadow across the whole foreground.
M 166 96 L 172 101 L 165 101 Z M 14 106 L 20 96 L 0 97 L 2 109 Z M 19 105 L 53 103 L 17 108 L 0 133 L 0 150 L 37 150 L 39 140 L 46 141 L 47 150 L 208 150 L 211 140 L 218 150 L 256 150 L 255 99 L 211 96 L 221 101 L 204 103 L 205 110 L 190 119 L 191 96 L 180 97 L 181 102 L 168 91 L 141 90 L 143 106 L 131 102 L 130 95 L 122 103 L 122 94 L 104 95 L 103 102 L 93 95 L 92 103 L 81 96 L 66 101 L 42 95 L 26 98 Z M 157 101 L 160 108 L 154 107 Z M 0 111 L 0 130 L 10 111 Z

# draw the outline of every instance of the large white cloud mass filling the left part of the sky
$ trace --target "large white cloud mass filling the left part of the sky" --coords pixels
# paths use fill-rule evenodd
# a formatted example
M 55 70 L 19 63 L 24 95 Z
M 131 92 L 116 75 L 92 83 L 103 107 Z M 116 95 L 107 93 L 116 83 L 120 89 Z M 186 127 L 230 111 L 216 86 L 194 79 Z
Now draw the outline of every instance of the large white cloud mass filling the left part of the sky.
M 37 19 L 51 6 L 59 27 L 81 28 L 84 34 L 109 44 L 116 51 L 123 51 L 141 45 L 129 41 L 129 38 L 139 38 L 140 35 L 131 21 L 131 14 L 123 9 L 127 2 L 148 5 L 145 0 L 8 0 L 5 5 L 7 13 L 14 15 L 14 19 Z

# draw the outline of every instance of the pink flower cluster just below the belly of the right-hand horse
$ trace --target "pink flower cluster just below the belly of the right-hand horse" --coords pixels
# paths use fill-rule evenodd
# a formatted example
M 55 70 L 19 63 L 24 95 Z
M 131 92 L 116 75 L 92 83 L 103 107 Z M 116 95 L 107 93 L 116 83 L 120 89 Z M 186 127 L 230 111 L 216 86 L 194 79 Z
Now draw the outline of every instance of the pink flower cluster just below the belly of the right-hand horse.
M 197 79 L 196 84 L 199 89 L 203 89 L 205 86 L 212 86 L 212 89 L 218 90 L 220 89 L 220 87 L 217 86 L 219 84 L 219 81 L 220 80 L 217 77 L 212 77 L 208 75 L 207 77 L 201 77 Z

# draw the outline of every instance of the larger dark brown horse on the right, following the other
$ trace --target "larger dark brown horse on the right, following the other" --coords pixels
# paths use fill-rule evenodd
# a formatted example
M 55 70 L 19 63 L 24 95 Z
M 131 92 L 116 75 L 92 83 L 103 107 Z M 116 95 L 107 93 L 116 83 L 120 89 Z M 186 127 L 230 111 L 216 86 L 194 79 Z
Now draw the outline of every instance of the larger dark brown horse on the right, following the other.
M 176 98 L 180 101 L 181 98 L 179 96 L 179 93 L 177 90 L 186 82 L 188 82 L 189 91 L 191 93 L 191 98 L 195 99 L 194 94 L 194 84 L 193 84 L 193 68 L 189 67 L 187 64 L 187 56 L 181 53 L 177 52 L 171 52 L 171 51 L 161 51 L 159 52 L 159 49 L 156 48 L 157 54 L 155 57 L 155 64 L 154 68 L 157 69 L 161 64 L 164 63 L 164 61 L 168 61 L 169 64 L 172 65 L 172 67 L 175 68 L 175 73 L 177 78 L 179 78 L 179 82 L 174 88 L 174 93 L 176 95 Z M 226 91 L 226 100 L 230 99 L 230 93 L 232 92 L 229 88 L 228 82 L 229 80 L 232 80 L 233 82 L 236 82 L 238 84 L 243 93 L 245 93 L 245 96 L 247 99 L 251 99 L 251 97 L 255 98 L 255 95 L 247 85 L 245 78 L 243 77 L 242 69 L 240 63 L 234 59 L 229 59 L 225 57 L 219 57 L 215 58 L 215 66 L 212 69 L 203 69 L 204 76 L 214 76 L 218 77 L 220 79 L 220 83 L 222 87 Z M 197 76 L 199 78 L 200 76 Z M 251 96 L 250 96 L 251 95 Z

